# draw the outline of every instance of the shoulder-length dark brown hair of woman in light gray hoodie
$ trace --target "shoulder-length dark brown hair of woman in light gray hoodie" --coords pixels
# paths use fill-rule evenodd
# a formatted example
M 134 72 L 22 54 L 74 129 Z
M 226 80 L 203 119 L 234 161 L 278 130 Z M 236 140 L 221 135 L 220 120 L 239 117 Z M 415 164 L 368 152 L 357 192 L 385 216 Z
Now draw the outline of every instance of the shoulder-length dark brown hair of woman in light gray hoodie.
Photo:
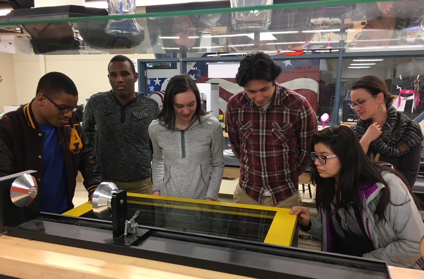
M 158 119 L 165 123 L 168 129 L 173 130 L 175 127 L 174 96 L 189 90 L 196 96 L 196 111 L 194 116 L 207 114 L 201 104 L 199 89 L 190 75 L 174 75 L 166 86 L 165 96 L 163 97 L 163 109 L 158 114 Z M 198 120 L 201 123 L 200 118 Z

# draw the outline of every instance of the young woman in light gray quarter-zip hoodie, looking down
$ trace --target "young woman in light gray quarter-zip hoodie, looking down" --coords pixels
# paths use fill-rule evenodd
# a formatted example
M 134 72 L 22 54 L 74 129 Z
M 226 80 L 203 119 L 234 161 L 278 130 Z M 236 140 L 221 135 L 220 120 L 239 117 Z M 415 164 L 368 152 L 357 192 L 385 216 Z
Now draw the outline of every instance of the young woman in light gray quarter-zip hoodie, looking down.
M 222 128 L 201 108 L 190 76 L 171 78 L 158 118 L 149 126 L 153 195 L 218 200 L 224 167 Z

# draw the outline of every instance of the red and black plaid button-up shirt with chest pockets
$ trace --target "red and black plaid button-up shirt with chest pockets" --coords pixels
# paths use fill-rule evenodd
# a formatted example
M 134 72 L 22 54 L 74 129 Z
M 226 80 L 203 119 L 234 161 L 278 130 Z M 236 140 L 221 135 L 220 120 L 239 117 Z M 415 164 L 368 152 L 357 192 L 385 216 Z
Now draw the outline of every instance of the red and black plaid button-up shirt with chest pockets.
M 227 104 L 226 125 L 232 150 L 240 161 L 240 187 L 259 203 L 268 190 L 273 204 L 298 190 L 299 175 L 310 163 L 316 114 L 303 96 L 276 84 L 264 112 L 245 91 Z

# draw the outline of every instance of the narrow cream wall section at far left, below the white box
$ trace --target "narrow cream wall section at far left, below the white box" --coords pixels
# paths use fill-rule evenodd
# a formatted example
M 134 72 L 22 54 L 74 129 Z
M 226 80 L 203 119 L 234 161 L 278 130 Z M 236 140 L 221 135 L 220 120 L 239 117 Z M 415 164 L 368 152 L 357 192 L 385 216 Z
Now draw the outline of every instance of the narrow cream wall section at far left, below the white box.
M 0 112 L 3 106 L 17 106 L 13 54 L 0 52 Z

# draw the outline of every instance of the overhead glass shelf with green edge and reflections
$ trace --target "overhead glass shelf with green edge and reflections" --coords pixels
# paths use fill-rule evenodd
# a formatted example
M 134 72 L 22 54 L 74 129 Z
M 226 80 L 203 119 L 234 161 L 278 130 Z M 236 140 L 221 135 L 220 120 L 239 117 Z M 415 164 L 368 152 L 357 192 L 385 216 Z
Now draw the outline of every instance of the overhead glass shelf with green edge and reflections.
M 232 24 L 237 11 L 260 10 L 262 6 L 150 13 L 146 8 L 147 13 L 97 16 L 89 21 L 52 16 L 25 21 L 24 17 L 4 16 L 0 17 L 3 29 L 0 32 L 19 35 L 18 24 L 23 23 L 23 37 L 31 36 L 35 53 L 50 54 L 263 50 L 271 55 L 313 56 L 344 49 L 346 52 L 424 49 L 424 0 L 360 2 L 314 1 L 313 6 L 308 6 L 312 4 L 293 1 L 266 6 L 271 12 L 271 24 L 266 30 L 243 30 L 240 27 L 243 21 Z M 339 5 L 331 6 L 335 4 Z M 117 20 L 121 20 L 122 33 L 116 33 L 119 28 L 114 28 L 112 34 L 111 22 Z M 136 33 L 132 32 L 136 29 Z

